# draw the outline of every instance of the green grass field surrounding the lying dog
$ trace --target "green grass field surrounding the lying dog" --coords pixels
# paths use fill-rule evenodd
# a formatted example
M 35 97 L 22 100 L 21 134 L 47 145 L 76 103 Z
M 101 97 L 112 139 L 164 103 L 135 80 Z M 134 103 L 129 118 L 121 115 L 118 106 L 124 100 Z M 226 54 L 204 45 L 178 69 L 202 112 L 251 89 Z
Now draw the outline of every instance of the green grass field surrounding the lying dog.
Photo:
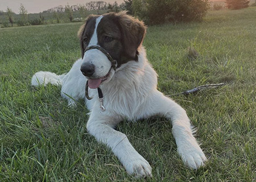
M 80 57 L 81 23 L 0 29 L 0 181 L 255 181 L 256 8 L 210 11 L 202 23 L 148 27 L 144 46 L 169 95 L 225 82 L 191 96 L 174 96 L 197 127 L 209 159 L 193 171 L 176 152 L 164 118 L 122 122 L 152 179 L 127 175 L 109 148 L 86 132 L 83 102 L 67 107 L 60 87 L 32 88 L 37 71 L 68 72 Z M 188 47 L 200 56 L 188 59 Z

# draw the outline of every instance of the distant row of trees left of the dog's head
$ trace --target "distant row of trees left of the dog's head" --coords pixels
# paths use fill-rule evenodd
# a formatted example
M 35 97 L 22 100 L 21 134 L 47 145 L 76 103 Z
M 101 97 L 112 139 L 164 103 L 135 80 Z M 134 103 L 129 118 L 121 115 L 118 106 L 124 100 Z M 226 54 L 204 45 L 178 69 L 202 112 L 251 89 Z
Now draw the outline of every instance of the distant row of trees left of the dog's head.
M 124 3 L 118 5 L 117 2 L 107 3 L 105 1 L 90 1 L 88 3 L 79 5 L 65 5 L 57 6 L 39 14 L 28 14 L 26 7 L 20 4 L 19 14 L 15 14 L 10 7 L 6 11 L 0 11 L 5 20 L 2 21 L 4 27 L 13 26 L 16 23 L 18 26 L 45 24 L 48 23 L 61 23 L 61 22 L 74 22 L 82 21 L 89 14 L 101 14 L 108 12 L 118 12 L 124 9 Z

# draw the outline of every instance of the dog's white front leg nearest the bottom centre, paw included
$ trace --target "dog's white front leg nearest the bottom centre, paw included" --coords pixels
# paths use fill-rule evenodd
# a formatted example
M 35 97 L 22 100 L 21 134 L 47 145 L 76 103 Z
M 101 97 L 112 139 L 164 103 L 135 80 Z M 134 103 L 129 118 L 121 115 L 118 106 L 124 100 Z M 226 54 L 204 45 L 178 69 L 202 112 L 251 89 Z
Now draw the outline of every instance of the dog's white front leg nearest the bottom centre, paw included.
M 136 177 L 146 177 L 151 175 L 151 167 L 134 148 L 126 135 L 113 129 L 116 118 L 102 113 L 91 113 L 87 123 L 87 130 L 99 142 L 107 144 L 115 156 L 121 161 L 126 171 Z

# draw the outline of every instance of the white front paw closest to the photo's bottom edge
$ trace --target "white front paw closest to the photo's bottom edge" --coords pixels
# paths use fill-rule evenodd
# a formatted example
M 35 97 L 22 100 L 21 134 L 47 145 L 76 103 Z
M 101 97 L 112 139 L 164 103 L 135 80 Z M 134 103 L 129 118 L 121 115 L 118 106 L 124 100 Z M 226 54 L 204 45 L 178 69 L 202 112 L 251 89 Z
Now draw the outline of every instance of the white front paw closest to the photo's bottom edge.
M 128 162 L 124 166 L 130 175 L 135 177 L 152 177 L 151 166 L 142 156 L 127 160 Z

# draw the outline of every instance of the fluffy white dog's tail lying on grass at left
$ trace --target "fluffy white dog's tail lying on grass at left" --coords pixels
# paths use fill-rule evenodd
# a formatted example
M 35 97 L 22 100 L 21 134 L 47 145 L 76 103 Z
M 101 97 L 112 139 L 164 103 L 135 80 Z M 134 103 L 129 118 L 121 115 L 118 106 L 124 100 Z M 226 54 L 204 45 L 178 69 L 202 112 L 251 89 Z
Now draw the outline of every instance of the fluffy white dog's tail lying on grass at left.
M 62 85 L 66 73 L 63 75 L 56 75 L 55 73 L 51 72 L 36 72 L 35 75 L 32 76 L 31 85 L 32 86 L 39 86 L 47 84 L 53 84 L 53 85 Z

